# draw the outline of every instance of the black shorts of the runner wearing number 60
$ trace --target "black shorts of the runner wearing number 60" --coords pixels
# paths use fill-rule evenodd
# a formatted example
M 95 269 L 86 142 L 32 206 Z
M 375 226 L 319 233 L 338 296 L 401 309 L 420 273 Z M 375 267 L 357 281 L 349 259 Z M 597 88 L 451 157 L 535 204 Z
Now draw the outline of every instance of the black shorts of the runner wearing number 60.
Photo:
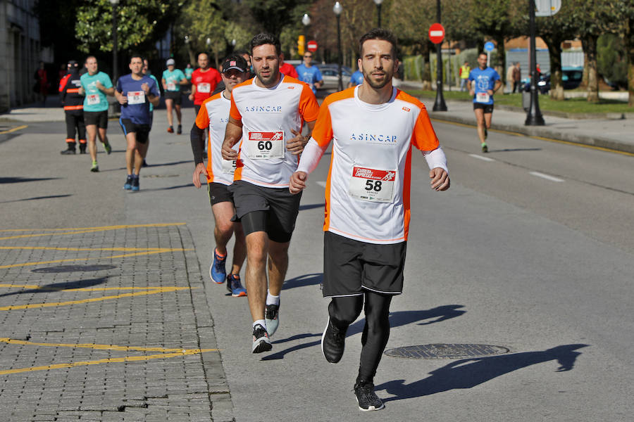
M 229 186 L 235 205 L 234 221 L 242 222 L 244 235 L 266 231 L 271 241 L 290 241 L 299 213 L 302 194 L 292 195 L 288 188 L 264 188 L 247 181 L 237 180 Z M 263 212 L 263 218 L 259 217 Z M 258 218 L 243 217 L 254 212 Z

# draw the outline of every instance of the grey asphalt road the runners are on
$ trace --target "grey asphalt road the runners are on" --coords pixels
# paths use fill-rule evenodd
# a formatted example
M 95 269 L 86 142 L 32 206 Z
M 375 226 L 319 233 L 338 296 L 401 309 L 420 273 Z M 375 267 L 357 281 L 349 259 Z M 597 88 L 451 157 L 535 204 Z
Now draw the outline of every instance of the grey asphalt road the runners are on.
M 193 112 L 184 113 L 187 128 Z M 185 222 L 204 276 L 213 219 L 206 191 L 191 182 L 188 136 L 166 134 L 155 116 L 151 167 L 129 193 L 123 136 L 111 124 L 115 153 L 99 154 L 99 174 L 85 155 L 58 155 L 62 124 L 0 143 L 3 226 Z M 452 188 L 431 191 L 414 154 L 405 291 L 392 302 L 387 348 L 467 343 L 509 353 L 383 357 L 375 384 L 386 409 L 357 410 L 363 321 L 351 326 L 340 364 L 325 362 L 319 346 L 325 157 L 302 198 L 273 350 L 250 353 L 245 298 L 211 284 L 204 293 L 236 421 L 630 420 L 633 158 L 499 132 L 484 155 L 473 127 L 435 129 Z

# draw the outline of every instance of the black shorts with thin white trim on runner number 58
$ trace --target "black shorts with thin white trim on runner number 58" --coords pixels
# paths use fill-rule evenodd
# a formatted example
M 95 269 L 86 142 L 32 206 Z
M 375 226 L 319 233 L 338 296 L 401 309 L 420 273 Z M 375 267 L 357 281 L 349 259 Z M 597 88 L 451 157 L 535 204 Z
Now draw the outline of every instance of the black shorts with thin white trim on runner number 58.
M 403 291 L 407 242 L 366 243 L 325 231 L 323 234 L 323 297 L 386 295 Z

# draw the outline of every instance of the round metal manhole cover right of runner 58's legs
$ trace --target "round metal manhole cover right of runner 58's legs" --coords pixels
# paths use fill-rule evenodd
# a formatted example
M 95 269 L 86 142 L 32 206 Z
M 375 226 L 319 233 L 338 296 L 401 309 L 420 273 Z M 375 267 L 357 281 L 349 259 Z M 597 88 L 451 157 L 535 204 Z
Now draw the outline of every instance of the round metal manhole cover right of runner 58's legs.
M 465 357 L 490 356 L 508 353 L 509 349 L 492 345 L 418 345 L 397 347 L 385 350 L 391 357 L 407 357 L 410 359 L 464 359 Z

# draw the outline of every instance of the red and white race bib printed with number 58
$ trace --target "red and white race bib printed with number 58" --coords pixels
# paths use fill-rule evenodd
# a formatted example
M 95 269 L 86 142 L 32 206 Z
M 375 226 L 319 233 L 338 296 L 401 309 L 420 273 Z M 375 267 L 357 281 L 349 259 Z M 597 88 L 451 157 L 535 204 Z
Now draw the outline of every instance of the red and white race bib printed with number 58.
M 352 167 L 348 194 L 352 198 L 371 202 L 392 202 L 396 170 L 376 170 Z

